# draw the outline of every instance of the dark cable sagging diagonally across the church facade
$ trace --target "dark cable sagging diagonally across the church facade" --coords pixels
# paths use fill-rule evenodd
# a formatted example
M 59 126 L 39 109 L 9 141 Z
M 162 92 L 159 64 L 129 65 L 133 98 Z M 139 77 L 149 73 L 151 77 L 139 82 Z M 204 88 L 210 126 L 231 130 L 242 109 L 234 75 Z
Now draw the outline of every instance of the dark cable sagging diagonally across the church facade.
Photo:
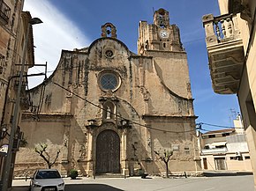
M 78 97 L 79 99 L 85 100 L 87 103 L 93 105 L 94 107 L 98 107 L 98 108 L 100 108 L 100 109 L 102 109 L 102 110 L 104 110 L 104 111 L 106 111 L 106 112 L 109 112 L 107 109 L 105 109 L 105 108 L 103 108 L 103 107 L 100 107 L 100 106 L 94 104 L 93 102 L 91 102 L 91 101 L 89 101 L 89 100 L 87 100 L 87 99 L 85 99 L 85 98 L 82 98 L 82 97 L 79 96 L 77 93 L 70 91 L 69 89 L 65 88 L 64 86 L 62 86 L 62 85 L 60 85 L 60 84 L 57 84 L 57 83 L 55 83 L 55 82 L 52 82 L 52 83 L 53 83 L 53 84 L 56 84 L 58 87 L 64 89 L 66 92 L 72 93 L 74 96 Z M 141 126 L 141 127 L 147 128 L 147 129 L 153 129 L 153 130 L 162 131 L 162 132 L 166 132 L 166 133 L 188 133 L 188 132 L 194 132 L 194 131 L 195 131 L 194 129 L 193 129 L 193 130 L 187 130 L 187 131 L 171 131 L 171 130 L 155 129 L 155 128 L 149 127 L 149 126 L 147 126 L 147 125 L 140 124 L 139 122 L 128 120 L 128 119 L 124 118 L 123 116 L 121 116 L 121 115 L 119 115 L 119 114 L 114 114 L 114 113 L 112 113 L 112 112 L 109 112 L 109 113 L 110 113 L 110 114 L 113 114 L 113 115 L 115 115 L 115 116 L 117 116 L 117 117 L 119 117 L 119 118 L 121 118 L 121 119 L 123 119 L 123 120 L 129 121 L 129 122 L 131 122 L 131 123 L 133 123 L 133 124 L 135 124 L 135 125 L 139 125 L 139 126 Z

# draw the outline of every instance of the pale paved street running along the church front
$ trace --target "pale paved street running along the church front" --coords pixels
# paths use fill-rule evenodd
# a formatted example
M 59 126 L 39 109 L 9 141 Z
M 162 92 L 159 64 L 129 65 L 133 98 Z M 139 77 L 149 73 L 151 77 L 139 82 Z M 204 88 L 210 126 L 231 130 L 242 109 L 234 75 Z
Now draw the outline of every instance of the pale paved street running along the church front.
M 66 191 L 253 191 L 252 175 L 162 179 L 64 179 Z M 13 190 L 25 191 L 29 181 L 14 180 Z M 19 186 L 19 187 L 18 187 Z M 23 186 L 22 188 L 20 186 Z M 26 187 L 25 187 L 26 186 Z

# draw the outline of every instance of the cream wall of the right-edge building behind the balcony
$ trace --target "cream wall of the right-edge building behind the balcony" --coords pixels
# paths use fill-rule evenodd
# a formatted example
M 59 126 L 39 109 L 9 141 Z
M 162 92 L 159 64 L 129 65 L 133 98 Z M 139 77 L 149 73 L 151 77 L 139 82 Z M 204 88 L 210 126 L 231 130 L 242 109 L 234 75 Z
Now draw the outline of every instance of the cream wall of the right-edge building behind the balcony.
M 253 16 L 255 16 L 254 11 L 255 11 L 255 2 L 249 1 L 249 9 L 251 11 L 252 19 Z M 238 92 L 238 100 L 239 100 L 239 105 L 241 108 L 241 112 L 244 118 L 244 125 L 245 125 L 245 133 L 247 135 L 247 140 L 249 144 L 249 149 L 250 149 L 250 156 L 251 156 L 251 161 L 252 161 L 252 169 L 254 173 L 254 182 L 256 182 L 256 116 L 255 116 L 255 103 L 256 103 L 256 88 L 255 88 L 255 78 L 256 78 L 256 72 L 254 70 L 255 68 L 255 51 L 256 51 L 256 46 L 255 46 L 255 28 L 253 32 L 251 33 L 252 30 L 252 25 L 255 25 L 255 18 L 254 18 L 254 23 L 246 22 L 244 19 L 240 20 L 239 28 L 242 29 L 242 37 L 244 41 L 244 47 L 245 47 L 245 57 L 246 63 L 245 63 L 245 70 L 243 73 L 243 77 L 241 79 L 241 85 L 240 85 L 240 90 Z M 242 23 L 242 24 L 241 24 Z M 250 38 L 250 35 L 252 37 Z M 256 189 L 256 188 L 255 188 Z

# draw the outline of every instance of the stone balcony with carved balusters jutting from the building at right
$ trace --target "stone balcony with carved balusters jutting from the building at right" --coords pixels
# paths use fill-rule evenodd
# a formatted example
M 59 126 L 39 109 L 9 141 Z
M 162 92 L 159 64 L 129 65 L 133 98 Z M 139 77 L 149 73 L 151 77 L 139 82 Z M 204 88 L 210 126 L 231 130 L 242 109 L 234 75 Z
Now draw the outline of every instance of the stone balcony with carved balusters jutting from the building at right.
M 202 20 L 213 89 L 220 94 L 237 93 L 245 59 L 237 15 L 208 14 Z

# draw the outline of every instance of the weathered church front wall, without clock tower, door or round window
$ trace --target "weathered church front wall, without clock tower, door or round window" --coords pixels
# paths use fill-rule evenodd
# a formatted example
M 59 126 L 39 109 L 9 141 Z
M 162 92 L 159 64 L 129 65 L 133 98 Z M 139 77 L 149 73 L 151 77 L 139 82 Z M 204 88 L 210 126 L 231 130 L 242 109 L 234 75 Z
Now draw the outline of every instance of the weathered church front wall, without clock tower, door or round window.
M 113 55 L 106 56 L 107 50 Z M 121 41 L 109 38 L 95 40 L 86 51 L 63 51 L 53 75 L 28 92 L 36 109 L 23 115 L 21 127 L 28 145 L 19 151 L 17 166 L 41 164 L 35 153 L 25 156 L 37 143 L 46 142 L 52 155 L 61 150 L 56 168 L 62 173 L 74 167 L 83 175 L 94 175 L 97 138 L 110 129 L 120 139 L 120 173 L 131 175 L 138 168 L 165 172 L 154 151 L 173 150 L 174 145 L 170 171 L 196 171 L 189 78 L 180 70 L 167 75 L 167 60 L 175 59 L 187 70 L 184 53 L 161 56 L 133 55 Z M 172 63 L 171 70 L 177 69 L 180 66 Z M 102 89 L 104 72 L 117 75 L 115 90 Z M 175 85 L 177 81 L 167 78 L 181 78 L 184 84 Z M 129 120 L 127 128 L 121 124 L 124 119 Z

